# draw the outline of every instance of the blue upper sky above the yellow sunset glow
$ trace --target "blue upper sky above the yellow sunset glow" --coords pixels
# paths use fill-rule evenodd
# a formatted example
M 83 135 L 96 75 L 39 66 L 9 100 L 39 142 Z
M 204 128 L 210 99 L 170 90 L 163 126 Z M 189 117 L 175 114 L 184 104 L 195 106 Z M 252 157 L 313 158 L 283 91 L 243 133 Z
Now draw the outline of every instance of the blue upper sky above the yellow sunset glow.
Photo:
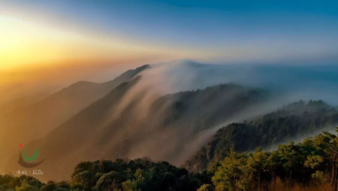
M 172 56 L 224 63 L 337 61 L 337 1 L 18 0 L 2 4 L 6 14 L 47 26 L 163 48 L 163 54 L 170 52 L 164 60 Z

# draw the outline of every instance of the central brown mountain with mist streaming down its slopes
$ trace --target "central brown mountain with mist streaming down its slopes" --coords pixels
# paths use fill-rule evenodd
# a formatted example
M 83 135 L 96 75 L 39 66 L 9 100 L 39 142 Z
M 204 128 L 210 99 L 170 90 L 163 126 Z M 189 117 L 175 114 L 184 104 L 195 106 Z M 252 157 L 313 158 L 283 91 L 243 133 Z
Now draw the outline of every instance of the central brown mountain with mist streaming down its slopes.
M 150 157 L 182 164 L 219 123 L 237 120 L 269 98 L 264 90 L 235 84 L 157 97 L 142 89 L 142 77 L 122 83 L 46 138 L 27 145 L 40 149 L 39 158 L 49 159 L 39 166 L 44 179 L 66 178 L 69 167 L 83 160 Z M 8 171 L 18 168 L 16 158 Z

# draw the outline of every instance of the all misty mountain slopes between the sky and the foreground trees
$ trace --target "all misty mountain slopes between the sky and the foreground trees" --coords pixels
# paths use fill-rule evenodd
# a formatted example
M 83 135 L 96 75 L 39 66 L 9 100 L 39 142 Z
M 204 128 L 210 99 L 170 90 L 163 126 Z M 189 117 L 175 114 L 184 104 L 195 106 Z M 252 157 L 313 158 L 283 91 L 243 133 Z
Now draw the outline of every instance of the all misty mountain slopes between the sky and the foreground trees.
M 3 115 L 7 130 L 2 145 L 7 145 L 8 158 L 2 158 L 6 165 L 1 170 L 19 167 L 18 142 L 30 154 L 39 148 L 38 159 L 48 159 L 39 166 L 46 174 L 41 180 L 59 181 L 68 180 L 79 162 L 101 159 L 148 157 L 200 171 L 221 161 L 231 147 L 239 152 L 272 148 L 334 130 L 335 99 L 330 97 L 330 104 L 309 102 L 308 92 L 320 88 L 323 78 L 314 78 L 313 84 L 296 81 L 293 74 L 283 73 L 290 67 L 179 61 L 145 65 L 104 83 L 74 83 Z M 288 76 L 278 81 L 282 74 Z M 332 77 L 327 75 L 325 84 L 335 86 L 338 80 Z M 290 80 L 295 82 L 287 86 Z M 329 97 L 327 91 L 313 97 L 321 95 Z M 302 96 L 305 102 L 288 105 Z

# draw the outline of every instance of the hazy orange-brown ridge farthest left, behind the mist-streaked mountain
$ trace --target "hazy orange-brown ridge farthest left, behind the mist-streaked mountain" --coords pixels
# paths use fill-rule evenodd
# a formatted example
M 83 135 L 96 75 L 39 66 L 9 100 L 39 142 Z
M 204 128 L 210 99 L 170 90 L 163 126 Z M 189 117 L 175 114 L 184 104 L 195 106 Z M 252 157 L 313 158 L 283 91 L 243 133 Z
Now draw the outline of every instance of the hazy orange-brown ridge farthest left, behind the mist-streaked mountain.
M 11 155 L 19 143 L 41 138 L 94 101 L 100 99 L 122 82 L 148 68 L 128 70 L 104 83 L 79 81 L 37 103 L 17 108 L 0 116 L 1 147 L 4 156 Z M 3 162 L 2 157 L 0 162 Z

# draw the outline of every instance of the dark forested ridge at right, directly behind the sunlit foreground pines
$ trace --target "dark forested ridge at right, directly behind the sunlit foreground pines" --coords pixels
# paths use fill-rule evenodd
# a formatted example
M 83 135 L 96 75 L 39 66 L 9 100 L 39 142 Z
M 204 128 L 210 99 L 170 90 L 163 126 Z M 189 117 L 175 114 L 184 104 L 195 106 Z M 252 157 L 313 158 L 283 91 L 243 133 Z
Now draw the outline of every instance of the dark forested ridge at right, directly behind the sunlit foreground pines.
M 338 111 L 332 106 L 321 100 L 307 104 L 300 100 L 250 122 L 220 128 L 185 166 L 200 171 L 223 160 L 231 147 L 238 152 L 253 151 L 258 146 L 269 149 L 279 143 L 303 140 L 321 130 L 334 130 L 337 124 Z

